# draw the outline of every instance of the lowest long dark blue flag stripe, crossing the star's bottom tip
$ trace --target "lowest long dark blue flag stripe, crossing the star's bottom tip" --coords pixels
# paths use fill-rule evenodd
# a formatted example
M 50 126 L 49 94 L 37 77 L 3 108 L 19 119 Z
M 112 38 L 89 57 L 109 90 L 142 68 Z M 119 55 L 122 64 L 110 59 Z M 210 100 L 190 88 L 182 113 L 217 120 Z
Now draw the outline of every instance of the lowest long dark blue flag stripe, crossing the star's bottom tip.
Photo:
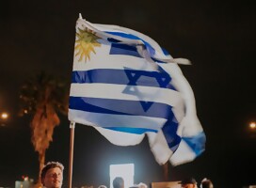
M 172 107 L 159 102 L 152 102 L 151 107 L 144 111 L 141 101 L 97 99 L 86 97 L 70 97 L 70 109 L 93 113 L 144 116 L 152 118 L 174 117 Z

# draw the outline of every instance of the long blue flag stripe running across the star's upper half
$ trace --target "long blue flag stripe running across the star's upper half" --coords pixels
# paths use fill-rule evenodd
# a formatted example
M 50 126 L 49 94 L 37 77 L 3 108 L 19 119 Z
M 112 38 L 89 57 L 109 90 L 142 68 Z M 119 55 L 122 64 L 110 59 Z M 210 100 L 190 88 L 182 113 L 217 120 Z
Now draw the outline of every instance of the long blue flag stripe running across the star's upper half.
M 176 90 L 166 72 L 134 70 L 72 71 L 72 83 L 104 83 L 126 86 L 154 86 Z

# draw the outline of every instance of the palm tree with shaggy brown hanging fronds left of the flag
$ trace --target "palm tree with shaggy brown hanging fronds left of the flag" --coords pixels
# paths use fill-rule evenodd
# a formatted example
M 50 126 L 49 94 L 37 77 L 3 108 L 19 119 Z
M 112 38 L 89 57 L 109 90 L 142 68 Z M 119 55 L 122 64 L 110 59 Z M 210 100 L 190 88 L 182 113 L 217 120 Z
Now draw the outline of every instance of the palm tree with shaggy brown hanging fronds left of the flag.
M 67 88 L 65 80 L 41 72 L 36 78 L 24 82 L 20 90 L 19 114 L 32 115 L 31 141 L 39 153 L 40 171 L 45 162 L 45 151 L 53 141 L 54 129 L 60 123 L 57 112 L 65 115 L 68 112 Z

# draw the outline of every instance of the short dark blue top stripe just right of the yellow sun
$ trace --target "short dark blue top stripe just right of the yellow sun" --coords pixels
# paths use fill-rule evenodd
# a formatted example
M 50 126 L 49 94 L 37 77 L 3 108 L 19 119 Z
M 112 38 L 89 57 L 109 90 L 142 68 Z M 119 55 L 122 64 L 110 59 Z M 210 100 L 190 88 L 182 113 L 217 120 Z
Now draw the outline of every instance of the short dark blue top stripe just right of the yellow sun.
M 136 51 L 136 46 L 121 44 L 121 43 L 112 43 L 110 48 L 110 55 L 132 55 L 141 57 Z

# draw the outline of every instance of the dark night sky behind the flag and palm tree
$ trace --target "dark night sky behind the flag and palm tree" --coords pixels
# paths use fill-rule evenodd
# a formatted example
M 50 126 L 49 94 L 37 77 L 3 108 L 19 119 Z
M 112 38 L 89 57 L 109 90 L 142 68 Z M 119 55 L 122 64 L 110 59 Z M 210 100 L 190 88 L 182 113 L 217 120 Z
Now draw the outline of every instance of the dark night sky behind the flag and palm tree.
M 69 77 L 78 14 L 91 23 L 118 24 L 155 39 L 181 66 L 192 86 L 206 150 L 194 162 L 169 165 L 169 180 L 207 177 L 218 188 L 256 184 L 256 6 L 255 1 L 4 1 L 0 5 L 0 111 L 11 115 L 0 126 L 0 186 L 14 187 L 22 175 L 37 180 L 38 155 L 30 142 L 30 117 L 17 117 L 19 87 L 40 71 Z M 67 117 L 55 129 L 46 161 L 69 168 Z M 73 185 L 108 184 L 109 164 L 135 163 L 135 182 L 162 181 L 147 138 L 135 147 L 117 147 L 100 133 L 76 125 Z

